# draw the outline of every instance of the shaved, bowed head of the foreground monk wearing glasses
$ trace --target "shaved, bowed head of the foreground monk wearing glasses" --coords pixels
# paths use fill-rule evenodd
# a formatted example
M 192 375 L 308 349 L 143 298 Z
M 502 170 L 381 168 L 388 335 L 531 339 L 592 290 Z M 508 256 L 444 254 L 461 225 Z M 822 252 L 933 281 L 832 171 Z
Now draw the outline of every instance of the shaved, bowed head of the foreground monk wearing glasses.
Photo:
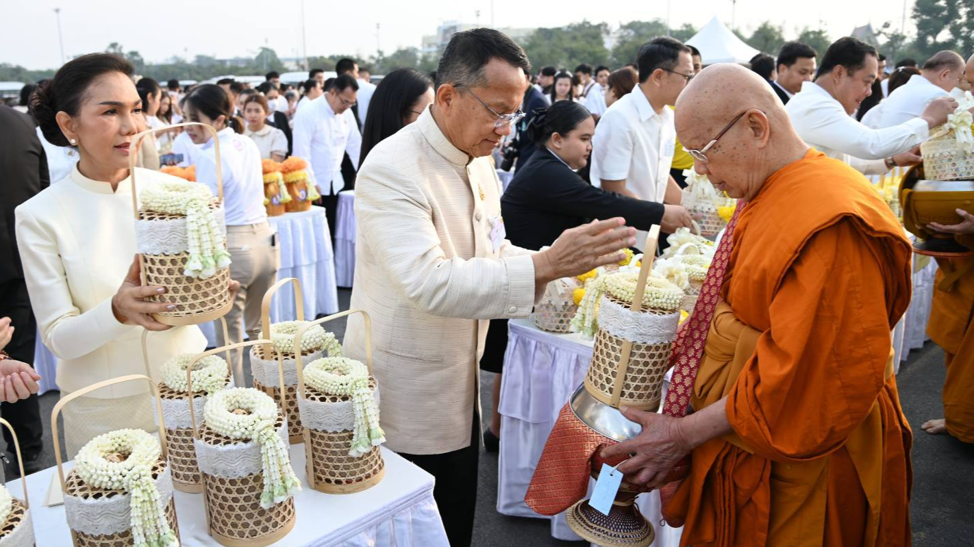
M 771 173 L 808 148 L 768 82 L 736 64 L 704 68 L 680 93 L 676 130 L 687 149 L 701 150 L 740 114 L 706 152 L 707 161 L 693 166 L 731 198 L 751 199 Z

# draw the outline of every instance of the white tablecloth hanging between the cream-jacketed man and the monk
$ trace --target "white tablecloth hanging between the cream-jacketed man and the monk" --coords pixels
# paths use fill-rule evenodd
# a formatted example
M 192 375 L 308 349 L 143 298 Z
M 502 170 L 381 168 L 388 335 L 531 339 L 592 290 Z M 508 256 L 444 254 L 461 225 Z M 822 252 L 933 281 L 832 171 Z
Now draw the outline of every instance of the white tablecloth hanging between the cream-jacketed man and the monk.
M 551 535 L 580 540 L 565 514 L 544 517 L 524 502 L 544 441 L 561 408 L 585 378 L 592 343 L 578 334 L 556 335 L 535 326 L 534 318 L 507 322 L 507 350 L 501 383 L 501 453 L 497 510 L 514 517 L 551 519 Z M 675 547 L 681 529 L 659 526 L 659 493 L 641 494 L 640 511 L 656 529 L 653 547 Z

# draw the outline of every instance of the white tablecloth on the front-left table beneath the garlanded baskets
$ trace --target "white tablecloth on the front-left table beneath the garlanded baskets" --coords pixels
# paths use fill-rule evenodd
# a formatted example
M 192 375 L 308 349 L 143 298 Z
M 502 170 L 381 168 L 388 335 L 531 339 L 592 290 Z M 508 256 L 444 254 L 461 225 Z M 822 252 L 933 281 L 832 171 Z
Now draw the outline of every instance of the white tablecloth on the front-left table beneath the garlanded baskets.
M 274 544 L 277 547 L 449 546 L 432 497 L 433 478 L 409 461 L 383 448 L 382 482 L 364 492 L 336 495 L 308 488 L 303 444 L 291 445 L 290 455 L 302 491 L 294 498 L 294 529 Z M 65 468 L 66 474 L 70 462 Z M 64 506 L 43 506 L 54 476 L 56 468 L 51 467 L 27 477 L 38 547 L 71 544 Z M 22 495 L 19 480 L 7 486 L 13 495 Z M 203 494 L 175 492 L 175 500 L 181 545 L 218 545 L 206 533 Z

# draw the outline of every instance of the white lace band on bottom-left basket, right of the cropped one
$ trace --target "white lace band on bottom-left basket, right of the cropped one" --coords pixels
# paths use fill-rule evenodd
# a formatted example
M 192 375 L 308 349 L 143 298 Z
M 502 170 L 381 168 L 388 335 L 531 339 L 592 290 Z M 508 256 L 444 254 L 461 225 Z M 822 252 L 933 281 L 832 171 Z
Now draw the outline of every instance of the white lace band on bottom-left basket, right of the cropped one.
M 159 502 L 166 507 L 172 498 L 172 475 L 169 465 L 156 479 Z M 131 529 L 131 494 L 116 493 L 111 497 L 64 495 L 67 526 L 89 535 L 108 535 Z

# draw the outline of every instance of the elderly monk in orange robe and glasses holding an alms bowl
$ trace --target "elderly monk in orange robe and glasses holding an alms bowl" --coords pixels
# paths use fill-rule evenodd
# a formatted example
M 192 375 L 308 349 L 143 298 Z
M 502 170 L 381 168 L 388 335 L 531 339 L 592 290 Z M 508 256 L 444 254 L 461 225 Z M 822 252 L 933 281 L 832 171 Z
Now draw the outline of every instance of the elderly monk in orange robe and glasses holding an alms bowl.
M 909 545 L 913 438 L 890 339 L 911 296 L 902 227 L 860 173 L 798 137 L 753 72 L 705 68 L 676 113 L 696 171 L 747 203 L 722 242 L 720 301 L 693 311 L 713 315 L 693 414 L 625 409 L 643 432 L 603 456 L 634 455 L 618 469 L 658 487 L 691 455 L 663 508 L 681 545 Z

